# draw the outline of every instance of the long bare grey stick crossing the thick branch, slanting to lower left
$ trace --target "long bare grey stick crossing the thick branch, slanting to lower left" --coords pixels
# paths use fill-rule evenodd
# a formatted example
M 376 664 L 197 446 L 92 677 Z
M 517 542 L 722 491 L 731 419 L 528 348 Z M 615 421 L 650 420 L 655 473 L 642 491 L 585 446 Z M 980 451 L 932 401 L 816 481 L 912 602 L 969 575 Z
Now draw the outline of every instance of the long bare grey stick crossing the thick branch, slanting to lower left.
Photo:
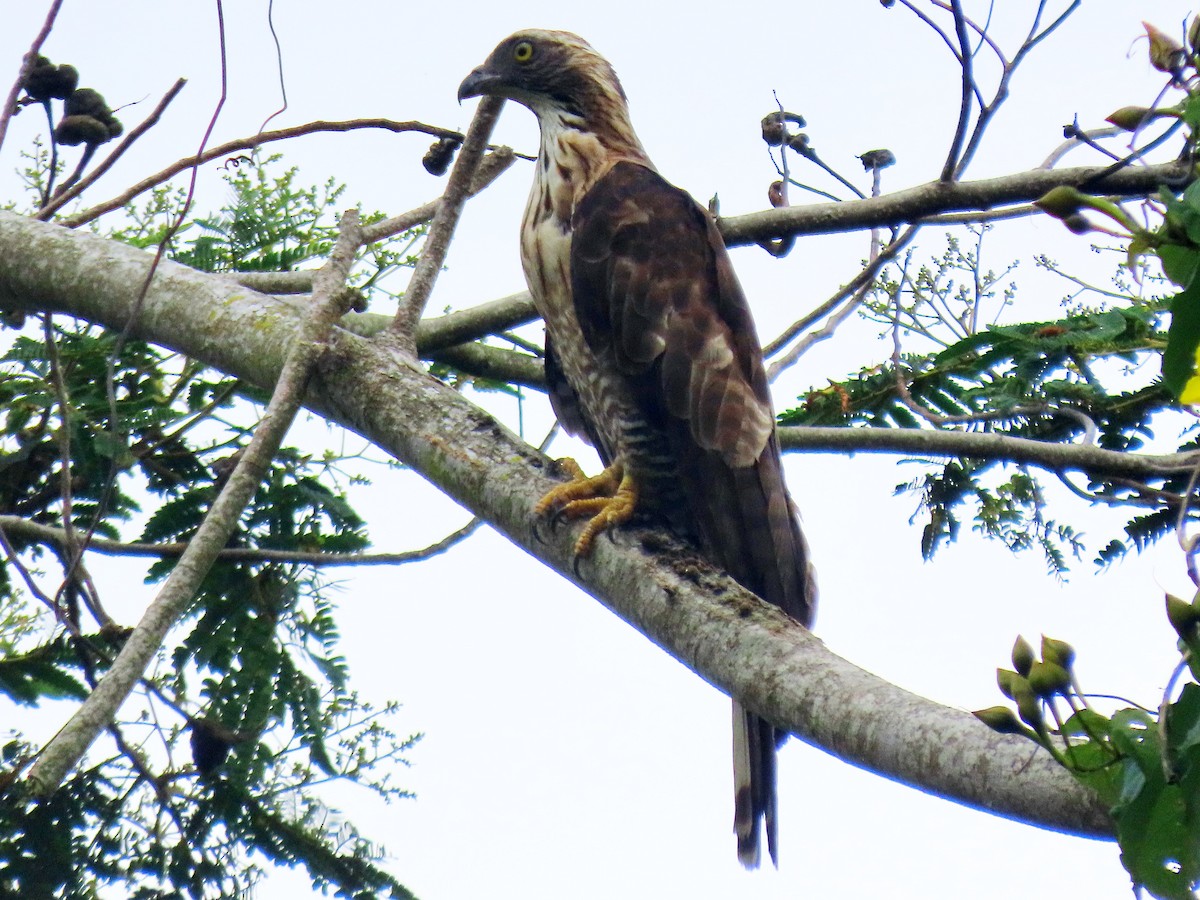
M 305 388 L 324 353 L 329 332 L 346 312 L 342 288 L 360 240 L 358 211 L 348 210 L 342 216 L 341 235 L 334 253 L 317 277 L 312 314 L 292 342 L 275 392 L 253 438 L 112 667 L 34 763 L 28 780 L 35 796 L 53 793 L 96 736 L 112 722 L 116 709 L 142 678 L 168 630 L 186 611 L 200 581 L 228 542 L 304 400 Z

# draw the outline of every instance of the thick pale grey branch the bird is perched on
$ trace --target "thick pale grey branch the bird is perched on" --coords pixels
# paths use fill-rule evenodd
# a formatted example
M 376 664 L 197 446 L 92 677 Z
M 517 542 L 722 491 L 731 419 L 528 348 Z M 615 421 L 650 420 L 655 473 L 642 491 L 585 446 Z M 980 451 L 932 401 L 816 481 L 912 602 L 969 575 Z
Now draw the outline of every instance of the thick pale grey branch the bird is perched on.
M 119 326 L 146 264 L 131 247 L 0 211 L 0 306 Z M 134 335 L 269 386 L 299 320 L 272 298 L 167 263 Z M 395 454 L 748 708 L 923 790 L 1078 834 L 1110 834 L 1096 798 L 1028 742 L 846 662 L 661 535 L 628 530 L 600 541 L 582 576 L 574 574 L 572 529 L 545 544 L 532 532 L 530 511 L 552 484 L 545 457 L 376 342 L 335 331 L 330 360 L 312 385 L 311 408 Z

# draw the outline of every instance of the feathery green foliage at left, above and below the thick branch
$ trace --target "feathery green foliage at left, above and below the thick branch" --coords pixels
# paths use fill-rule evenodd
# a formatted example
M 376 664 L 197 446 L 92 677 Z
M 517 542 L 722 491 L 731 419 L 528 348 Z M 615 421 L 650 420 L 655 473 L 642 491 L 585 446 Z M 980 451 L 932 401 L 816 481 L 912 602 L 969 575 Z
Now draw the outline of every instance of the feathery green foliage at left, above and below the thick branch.
M 341 188 L 300 188 L 295 172 L 242 167 L 220 214 L 184 229 L 175 256 L 212 271 L 295 268 L 328 253 Z M 119 236 L 152 246 L 180 198 L 158 192 Z M 416 235 L 401 241 L 410 242 Z M 379 247 L 367 292 L 407 264 Z M 0 356 L 0 515 L 71 527 L 78 539 L 169 544 L 198 529 L 248 440 L 259 396 L 160 348 L 85 323 L 48 319 Z M 340 487 L 342 457 L 284 449 L 230 541 L 245 551 L 353 553 L 368 546 Z M 353 480 L 361 480 L 355 476 Z M 127 630 L 60 545 L 17 533 L 0 563 L 0 694 L 20 704 L 74 702 L 110 665 Z M 46 582 L 42 568 L 62 576 Z M 175 564 L 164 554 L 146 580 Z M 168 638 L 157 671 L 88 767 L 44 802 L 23 792 L 32 749 L 14 736 L 0 767 L 0 894 L 233 896 L 264 860 L 302 865 L 340 895 L 408 896 L 382 847 L 322 800 L 349 779 L 407 797 L 391 769 L 419 736 L 390 726 L 353 690 L 330 588 L 306 563 L 221 559 Z M 256 862 L 257 860 L 257 862 Z

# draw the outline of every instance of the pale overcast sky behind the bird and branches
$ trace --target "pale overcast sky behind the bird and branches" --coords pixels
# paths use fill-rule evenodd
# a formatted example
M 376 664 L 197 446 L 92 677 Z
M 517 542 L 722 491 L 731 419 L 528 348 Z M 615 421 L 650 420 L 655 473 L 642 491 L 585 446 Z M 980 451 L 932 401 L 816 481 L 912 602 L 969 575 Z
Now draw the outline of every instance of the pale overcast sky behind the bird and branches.
M 13 71 L 46 4 L 8 6 L 0 61 Z M 980 17 L 985 6 L 968 4 Z M 997 4 L 1007 47 L 1033 6 Z M 935 178 L 958 113 L 959 71 L 946 48 L 911 14 L 875 0 L 514 8 L 277 0 L 290 108 L 272 125 L 388 116 L 466 127 L 474 102 L 460 108 L 455 94 L 467 72 L 518 28 L 562 28 L 611 59 L 664 175 L 702 200 L 718 193 L 721 211 L 737 214 L 763 208 L 774 178 L 757 125 L 774 108 L 772 91 L 809 119 L 822 156 L 864 187 L 853 157 L 878 146 L 898 157 L 886 190 Z M 1018 76 L 971 176 L 1037 166 L 1076 115 L 1092 126 L 1117 107 L 1152 102 L 1162 76 L 1146 65 L 1145 41 L 1135 42 L 1139 20 L 1175 34 L 1188 10 L 1182 0 L 1085 2 Z M 214 142 L 256 132 L 280 104 L 265 0 L 228 2 L 226 17 L 229 100 Z M 176 77 L 190 79 L 97 198 L 198 145 L 217 91 L 212 4 L 68 0 L 44 52 L 78 66 L 114 107 L 144 100 L 145 109 Z M 124 118 L 128 125 L 140 115 Z M 25 115 L 10 132 L 4 196 L 12 196 L 17 150 L 37 125 Z M 533 116 L 510 104 L 496 140 L 535 151 Z M 347 205 L 400 212 L 444 185 L 420 167 L 427 144 L 416 136 L 316 136 L 283 151 L 305 182 L 347 182 Z M 468 206 L 431 310 L 523 288 L 516 230 L 529 179 L 530 167 L 518 164 Z M 221 192 L 217 172 L 206 172 L 202 197 L 216 202 Z M 920 253 L 943 245 L 930 229 Z M 830 295 L 866 250 L 859 234 L 802 240 L 785 260 L 736 251 L 761 335 L 772 337 Z M 1097 282 L 1110 272 L 1055 222 L 1000 226 L 986 264 L 1020 260 L 1018 275 L 1030 286 L 1013 317 L 1052 317 L 1067 293 L 1033 274 L 1040 252 Z M 847 328 L 776 385 L 776 404 L 878 361 L 884 353 L 874 340 L 869 328 Z M 551 419 L 533 406 L 527 424 L 536 440 Z M 511 404 L 492 408 L 511 420 Z M 302 439 L 313 449 L 346 440 L 320 426 Z M 554 449 L 584 456 L 569 442 Z M 1187 590 L 1170 546 L 1099 575 L 1085 558 L 1066 586 L 1046 576 L 1039 557 L 1014 558 L 971 535 L 924 564 L 920 522 L 908 522 L 914 499 L 892 496 L 920 466 L 820 455 L 792 455 L 787 464 L 821 581 L 816 630 L 835 652 L 973 709 L 1000 702 L 994 672 L 1007 665 L 1014 636 L 1048 632 L 1078 647 L 1087 689 L 1158 703 L 1174 661 L 1163 588 Z M 378 470 L 356 503 L 378 550 L 421 546 L 466 518 L 403 473 Z M 1100 544 L 1118 524 L 1079 503 L 1056 515 L 1094 530 Z M 94 571 L 109 583 L 140 581 L 122 566 L 97 563 Z M 409 755 L 412 768 L 398 773 L 416 800 L 383 808 L 348 792 L 337 803 L 388 847 L 391 871 L 419 896 L 1128 896 L 1114 845 L 964 809 L 797 740 L 781 752 L 780 869 L 746 874 L 731 832 L 728 700 L 594 600 L 486 529 L 418 566 L 341 577 L 344 650 L 359 686 L 402 701 L 397 728 L 426 738 Z M 132 623 L 145 596 L 130 598 Z M 300 875 L 274 875 L 260 896 L 304 895 L 305 884 Z

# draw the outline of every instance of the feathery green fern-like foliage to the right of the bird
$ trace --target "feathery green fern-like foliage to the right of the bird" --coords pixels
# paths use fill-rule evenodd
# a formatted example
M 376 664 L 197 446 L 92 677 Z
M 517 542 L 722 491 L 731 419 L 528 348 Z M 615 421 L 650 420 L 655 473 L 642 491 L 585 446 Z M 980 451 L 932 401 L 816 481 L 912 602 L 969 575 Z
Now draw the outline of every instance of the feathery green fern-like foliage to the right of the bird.
M 977 241 L 985 233 L 972 232 Z M 908 343 L 917 338 L 928 349 L 814 389 L 780 415 L 781 424 L 953 425 L 1043 442 L 1087 438 L 1124 451 L 1142 448 L 1156 431 L 1176 421 L 1165 416 L 1171 397 L 1160 380 L 1138 376 L 1158 371 L 1166 343 L 1163 301 L 1110 294 L 1057 319 L 980 324 L 984 308 L 1010 306 L 1014 290 L 1002 278 L 1012 266 L 1000 275 L 982 271 L 978 254 L 954 238 L 946 253 L 916 275 L 907 274 L 910 265 L 911 259 L 881 277 L 866 313 L 889 325 L 888 343 L 890 329 L 900 328 Z M 967 290 L 965 283 L 976 287 Z M 1178 449 L 1192 449 L 1186 427 L 1178 426 Z M 1109 563 L 1129 546 L 1144 547 L 1174 528 L 1177 506 L 1169 498 L 1183 492 L 1186 480 L 1164 475 L 1138 484 L 1097 479 L 1072 485 L 1088 499 L 1138 510 L 1124 534 L 1098 550 L 1097 562 Z M 1085 552 L 1075 527 L 1049 514 L 1042 481 L 1026 466 L 1000 458 L 929 461 L 923 475 L 896 491 L 918 497 L 926 558 L 953 544 L 964 522 L 1013 551 L 1040 552 L 1056 575 Z

